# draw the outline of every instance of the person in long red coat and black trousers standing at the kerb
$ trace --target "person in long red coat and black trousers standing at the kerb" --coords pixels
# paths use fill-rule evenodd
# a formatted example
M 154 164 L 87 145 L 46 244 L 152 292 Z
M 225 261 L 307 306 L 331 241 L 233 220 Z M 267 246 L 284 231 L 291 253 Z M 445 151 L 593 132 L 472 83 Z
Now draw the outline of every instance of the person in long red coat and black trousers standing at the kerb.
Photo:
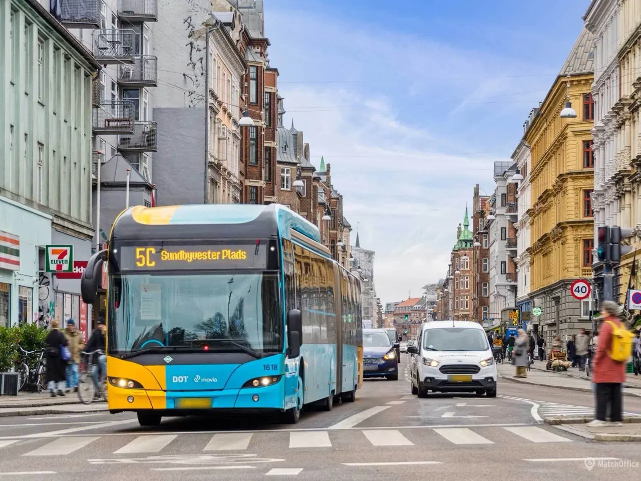
M 596 390 L 596 416 L 588 426 L 606 426 L 606 418 L 610 413 L 610 422 L 622 425 L 622 395 L 621 385 L 626 380 L 626 363 L 617 362 L 610 357 L 608 351 L 613 344 L 613 330 L 624 327 L 620 319 L 621 307 L 613 301 L 601 303 L 601 319 L 599 326 L 599 342 L 592 362 L 592 382 Z

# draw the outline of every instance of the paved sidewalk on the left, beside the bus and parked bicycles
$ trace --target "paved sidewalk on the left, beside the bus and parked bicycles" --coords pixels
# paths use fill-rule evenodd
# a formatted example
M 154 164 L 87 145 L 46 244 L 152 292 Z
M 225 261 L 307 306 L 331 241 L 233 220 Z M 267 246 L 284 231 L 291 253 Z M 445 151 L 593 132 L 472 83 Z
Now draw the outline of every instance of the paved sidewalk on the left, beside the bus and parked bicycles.
M 104 401 L 83 404 L 76 392 L 52 398 L 49 392 L 21 392 L 17 396 L 0 396 L 0 418 L 4 416 L 33 416 L 62 412 L 106 411 Z

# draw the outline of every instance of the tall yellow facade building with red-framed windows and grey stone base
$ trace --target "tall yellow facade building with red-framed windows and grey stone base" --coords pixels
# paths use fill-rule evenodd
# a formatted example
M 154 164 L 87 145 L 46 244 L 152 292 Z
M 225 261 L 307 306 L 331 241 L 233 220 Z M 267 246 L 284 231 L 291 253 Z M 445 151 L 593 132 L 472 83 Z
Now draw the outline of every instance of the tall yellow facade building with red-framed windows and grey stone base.
M 583 30 L 525 134 L 531 148 L 531 292 L 541 316 L 533 317 L 548 345 L 589 328 L 589 301 L 577 301 L 570 284 L 592 277 L 594 247 L 591 195 L 592 34 Z M 560 112 L 569 96 L 575 119 Z

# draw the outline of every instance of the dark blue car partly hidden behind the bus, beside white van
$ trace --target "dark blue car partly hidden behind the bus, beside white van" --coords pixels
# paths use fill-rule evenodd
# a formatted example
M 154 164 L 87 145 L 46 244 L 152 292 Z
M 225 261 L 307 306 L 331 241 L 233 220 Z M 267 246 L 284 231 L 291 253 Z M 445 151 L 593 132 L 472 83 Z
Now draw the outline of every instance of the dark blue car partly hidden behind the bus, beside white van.
M 398 380 L 398 346 L 390 341 L 385 329 L 363 329 L 363 376 Z

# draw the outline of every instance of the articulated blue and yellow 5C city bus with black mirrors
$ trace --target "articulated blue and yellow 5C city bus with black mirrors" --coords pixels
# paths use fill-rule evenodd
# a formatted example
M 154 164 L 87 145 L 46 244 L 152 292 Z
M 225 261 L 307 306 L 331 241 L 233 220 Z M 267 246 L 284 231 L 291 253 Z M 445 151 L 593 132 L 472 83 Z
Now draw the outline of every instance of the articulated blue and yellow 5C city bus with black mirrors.
M 108 266 L 110 412 L 144 426 L 203 410 L 330 410 L 362 385 L 360 282 L 281 205 L 133 207 L 89 260 Z

